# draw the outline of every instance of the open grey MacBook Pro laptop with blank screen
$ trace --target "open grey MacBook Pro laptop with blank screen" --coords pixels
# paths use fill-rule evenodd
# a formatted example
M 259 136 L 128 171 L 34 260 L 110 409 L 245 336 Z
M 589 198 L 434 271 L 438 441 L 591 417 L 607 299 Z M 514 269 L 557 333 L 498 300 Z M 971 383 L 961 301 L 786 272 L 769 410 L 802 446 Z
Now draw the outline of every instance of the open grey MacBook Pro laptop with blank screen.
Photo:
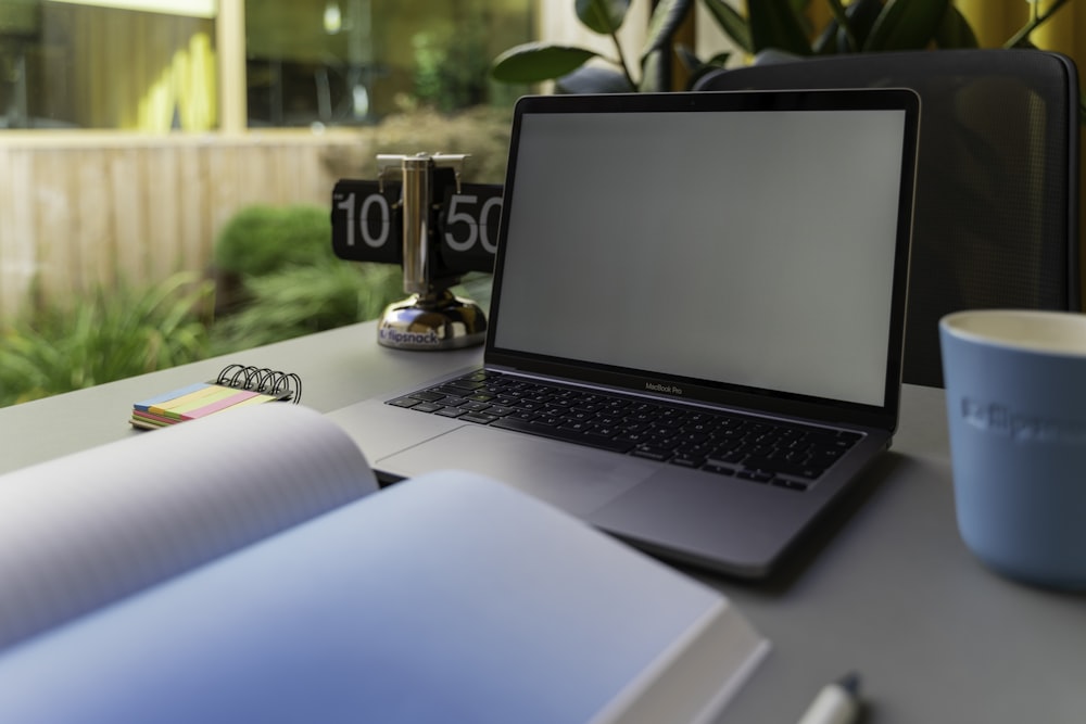
M 482 368 L 331 417 L 387 480 L 469 470 L 770 574 L 897 425 L 918 116 L 905 89 L 521 99 Z

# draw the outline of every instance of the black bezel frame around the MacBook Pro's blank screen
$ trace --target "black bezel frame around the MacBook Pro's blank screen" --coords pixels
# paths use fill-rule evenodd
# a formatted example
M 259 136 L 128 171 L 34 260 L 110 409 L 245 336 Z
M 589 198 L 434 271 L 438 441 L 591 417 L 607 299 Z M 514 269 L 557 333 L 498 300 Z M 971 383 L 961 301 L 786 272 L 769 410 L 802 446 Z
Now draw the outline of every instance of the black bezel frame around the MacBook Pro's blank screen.
M 810 397 L 799 394 L 742 388 L 725 383 L 705 384 L 689 378 L 660 379 L 645 370 L 613 367 L 548 357 L 518 350 L 498 347 L 495 331 L 501 325 L 501 305 L 490 314 L 484 365 L 533 377 L 553 378 L 564 382 L 583 383 L 594 389 L 608 389 L 628 394 L 666 399 L 678 404 L 723 406 L 755 414 L 800 418 L 833 425 L 856 427 L 893 433 L 897 427 L 904 357 L 906 294 L 909 274 L 920 99 L 912 90 L 847 89 L 847 90 L 772 90 L 772 91 L 704 91 L 677 93 L 614 93 L 570 96 L 527 96 L 514 111 L 509 161 L 505 179 L 505 206 L 498 228 L 494 265 L 493 300 L 501 299 L 504 282 L 510 214 L 509 200 L 516 194 L 517 151 L 523 119 L 532 114 L 548 113 L 671 113 L 671 112 L 765 112 L 765 111 L 849 111 L 897 110 L 905 113 L 901 150 L 901 183 L 898 198 L 897 241 L 894 254 L 892 315 L 888 325 L 887 365 L 883 404 L 863 405 L 843 401 Z M 679 384 L 674 384 L 679 383 Z M 682 397 L 646 392 L 655 386 L 681 386 Z

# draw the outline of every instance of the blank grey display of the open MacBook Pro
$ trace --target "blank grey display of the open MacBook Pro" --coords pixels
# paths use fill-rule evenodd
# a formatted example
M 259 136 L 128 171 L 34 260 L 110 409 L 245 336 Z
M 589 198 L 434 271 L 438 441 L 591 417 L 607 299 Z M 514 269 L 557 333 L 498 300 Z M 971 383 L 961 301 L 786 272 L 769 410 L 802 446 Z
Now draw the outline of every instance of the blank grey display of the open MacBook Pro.
M 884 405 L 900 364 L 906 111 L 694 101 L 707 107 L 528 99 L 491 348 Z

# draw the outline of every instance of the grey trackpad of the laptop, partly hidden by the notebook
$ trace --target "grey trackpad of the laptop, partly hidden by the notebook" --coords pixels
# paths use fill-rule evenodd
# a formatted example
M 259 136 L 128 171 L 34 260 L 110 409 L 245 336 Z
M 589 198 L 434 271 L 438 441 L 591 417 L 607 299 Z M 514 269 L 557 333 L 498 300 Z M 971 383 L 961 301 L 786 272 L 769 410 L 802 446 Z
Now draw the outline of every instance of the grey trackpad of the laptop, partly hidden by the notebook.
M 375 460 L 372 466 L 405 478 L 443 468 L 468 470 L 582 518 L 658 469 L 624 455 L 475 424 Z

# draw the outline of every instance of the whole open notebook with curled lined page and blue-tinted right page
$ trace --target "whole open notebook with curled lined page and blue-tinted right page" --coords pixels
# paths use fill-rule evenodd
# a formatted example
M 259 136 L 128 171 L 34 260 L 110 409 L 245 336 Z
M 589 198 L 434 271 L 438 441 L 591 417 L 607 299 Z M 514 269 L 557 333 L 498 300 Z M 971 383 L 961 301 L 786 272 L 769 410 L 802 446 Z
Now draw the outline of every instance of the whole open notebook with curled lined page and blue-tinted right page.
M 0 722 L 715 721 L 769 644 L 508 486 L 257 405 L 0 477 Z

